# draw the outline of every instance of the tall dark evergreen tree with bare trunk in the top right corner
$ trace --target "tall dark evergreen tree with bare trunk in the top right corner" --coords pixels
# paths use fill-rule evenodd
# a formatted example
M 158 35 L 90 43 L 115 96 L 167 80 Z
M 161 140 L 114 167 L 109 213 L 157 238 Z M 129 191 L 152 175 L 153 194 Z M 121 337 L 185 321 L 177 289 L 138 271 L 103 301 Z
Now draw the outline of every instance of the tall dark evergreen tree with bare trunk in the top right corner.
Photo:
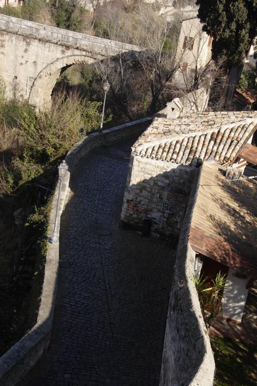
M 196 0 L 203 30 L 213 37 L 212 57 L 224 57 L 229 69 L 226 105 L 239 80 L 242 63 L 257 35 L 257 0 Z

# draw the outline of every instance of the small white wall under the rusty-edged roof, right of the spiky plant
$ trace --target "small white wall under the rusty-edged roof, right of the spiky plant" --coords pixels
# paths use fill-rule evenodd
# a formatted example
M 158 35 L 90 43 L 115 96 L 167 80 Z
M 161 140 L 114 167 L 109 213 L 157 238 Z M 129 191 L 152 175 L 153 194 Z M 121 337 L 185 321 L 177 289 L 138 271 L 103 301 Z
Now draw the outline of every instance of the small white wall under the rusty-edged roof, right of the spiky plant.
M 226 288 L 224 289 L 223 299 L 223 317 L 241 321 L 243 310 L 248 294 L 248 289 L 245 288 L 249 277 L 240 278 L 235 276 L 235 270 L 229 268 Z

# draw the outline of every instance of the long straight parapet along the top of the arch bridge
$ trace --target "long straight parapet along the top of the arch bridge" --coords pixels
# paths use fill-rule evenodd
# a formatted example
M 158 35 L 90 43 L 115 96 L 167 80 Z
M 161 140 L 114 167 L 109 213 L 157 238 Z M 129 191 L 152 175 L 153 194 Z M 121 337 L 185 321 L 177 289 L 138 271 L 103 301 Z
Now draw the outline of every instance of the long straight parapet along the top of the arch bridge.
M 102 45 L 103 47 L 122 49 L 122 51 L 142 50 L 141 47 L 132 44 L 121 43 L 114 40 L 81 34 L 79 32 L 69 31 L 57 27 L 48 26 L 45 24 L 30 22 L 28 20 L 14 18 L 12 16 L 2 14 L 0 15 L 0 30 L 19 34 L 20 32 L 22 33 L 21 29 L 27 29 L 30 33 L 31 38 L 42 39 L 49 36 L 52 39 L 54 38 L 54 40 L 56 40 L 58 44 L 61 44 L 62 40 L 64 42 L 67 42 L 66 38 L 71 38 L 81 41 L 81 44 L 83 44 L 83 42 L 95 43 L 98 45 Z

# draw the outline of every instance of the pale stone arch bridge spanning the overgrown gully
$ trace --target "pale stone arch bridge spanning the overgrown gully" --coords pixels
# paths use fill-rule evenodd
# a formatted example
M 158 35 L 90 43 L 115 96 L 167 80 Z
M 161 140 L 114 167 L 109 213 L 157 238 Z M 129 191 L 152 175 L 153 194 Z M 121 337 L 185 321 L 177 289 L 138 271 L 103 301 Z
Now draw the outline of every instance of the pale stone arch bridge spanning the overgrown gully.
M 50 105 L 55 82 L 68 66 L 140 50 L 130 44 L 0 15 L 0 77 L 7 98 L 28 99 L 37 108 Z

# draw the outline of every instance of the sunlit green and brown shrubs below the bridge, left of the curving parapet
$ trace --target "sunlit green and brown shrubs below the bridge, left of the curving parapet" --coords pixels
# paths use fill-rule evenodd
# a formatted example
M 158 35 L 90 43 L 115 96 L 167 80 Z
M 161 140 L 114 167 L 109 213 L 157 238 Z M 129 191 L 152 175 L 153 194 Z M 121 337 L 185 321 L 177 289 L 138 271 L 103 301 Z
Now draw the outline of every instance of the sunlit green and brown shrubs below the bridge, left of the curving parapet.
M 99 106 L 101 103 L 81 99 L 78 93 L 67 95 L 62 91 L 55 94 L 51 111 L 38 115 L 27 102 L 2 102 L 0 151 L 11 146 L 11 142 L 16 148 L 11 160 L 0 163 L 0 196 L 42 175 L 75 142 L 96 130 L 101 120 Z

